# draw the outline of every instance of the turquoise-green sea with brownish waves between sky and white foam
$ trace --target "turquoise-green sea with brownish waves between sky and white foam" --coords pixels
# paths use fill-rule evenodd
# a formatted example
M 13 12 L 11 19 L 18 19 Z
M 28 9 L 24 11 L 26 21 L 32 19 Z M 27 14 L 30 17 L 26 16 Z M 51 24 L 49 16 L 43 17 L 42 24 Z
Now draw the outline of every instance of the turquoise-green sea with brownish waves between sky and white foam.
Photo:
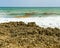
M 0 7 L 0 17 L 60 15 L 60 7 Z

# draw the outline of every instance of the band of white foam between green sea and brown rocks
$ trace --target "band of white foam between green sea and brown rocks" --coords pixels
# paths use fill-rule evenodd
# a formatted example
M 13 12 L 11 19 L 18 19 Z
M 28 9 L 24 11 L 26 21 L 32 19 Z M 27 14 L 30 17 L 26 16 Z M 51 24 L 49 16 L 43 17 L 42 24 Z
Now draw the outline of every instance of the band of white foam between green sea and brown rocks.
M 29 18 L 0 18 L 0 23 L 4 22 L 16 22 L 23 21 L 36 22 L 41 27 L 57 27 L 60 28 L 60 16 L 49 16 L 49 17 L 29 17 Z

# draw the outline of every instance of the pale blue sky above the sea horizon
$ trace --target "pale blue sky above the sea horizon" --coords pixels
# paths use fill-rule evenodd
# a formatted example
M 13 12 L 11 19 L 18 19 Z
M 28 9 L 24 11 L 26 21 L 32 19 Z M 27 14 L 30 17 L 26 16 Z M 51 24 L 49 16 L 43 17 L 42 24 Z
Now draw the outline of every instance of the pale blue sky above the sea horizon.
M 0 0 L 0 7 L 60 7 L 60 0 Z

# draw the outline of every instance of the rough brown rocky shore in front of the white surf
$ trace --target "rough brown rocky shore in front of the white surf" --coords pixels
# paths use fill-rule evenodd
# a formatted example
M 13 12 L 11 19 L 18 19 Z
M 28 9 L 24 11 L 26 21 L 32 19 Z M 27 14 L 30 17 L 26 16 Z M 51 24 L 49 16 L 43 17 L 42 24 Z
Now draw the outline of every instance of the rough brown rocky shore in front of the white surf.
M 60 48 L 60 29 L 35 22 L 1 23 L 0 48 Z

